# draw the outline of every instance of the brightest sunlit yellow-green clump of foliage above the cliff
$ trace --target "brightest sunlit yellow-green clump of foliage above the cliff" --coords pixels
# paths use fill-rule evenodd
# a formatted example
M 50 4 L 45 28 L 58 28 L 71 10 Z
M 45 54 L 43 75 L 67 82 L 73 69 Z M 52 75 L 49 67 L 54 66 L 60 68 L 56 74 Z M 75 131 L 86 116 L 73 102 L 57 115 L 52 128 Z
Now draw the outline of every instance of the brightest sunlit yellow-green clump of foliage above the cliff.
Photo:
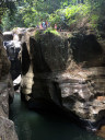
M 55 13 L 49 15 L 49 22 L 51 26 L 55 24 L 58 27 L 69 27 L 72 24 L 77 24 L 84 16 L 90 15 L 89 4 L 68 5 L 65 9 L 59 9 Z

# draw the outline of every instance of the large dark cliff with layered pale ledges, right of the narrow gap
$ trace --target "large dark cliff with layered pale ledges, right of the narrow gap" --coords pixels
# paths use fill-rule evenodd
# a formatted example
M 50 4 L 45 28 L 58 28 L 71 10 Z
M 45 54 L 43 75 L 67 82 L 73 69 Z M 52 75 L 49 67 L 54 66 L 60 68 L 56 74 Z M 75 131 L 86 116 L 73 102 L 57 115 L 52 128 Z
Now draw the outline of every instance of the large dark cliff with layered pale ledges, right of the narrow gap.
M 31 36 L 34 35 L 34 36 Z M 104 46 L 95 35 L 25 34 L 22 97 L 52 101 L 93 127 L 105 117 Z M 98 122 L 100 124 L 100 122 Z

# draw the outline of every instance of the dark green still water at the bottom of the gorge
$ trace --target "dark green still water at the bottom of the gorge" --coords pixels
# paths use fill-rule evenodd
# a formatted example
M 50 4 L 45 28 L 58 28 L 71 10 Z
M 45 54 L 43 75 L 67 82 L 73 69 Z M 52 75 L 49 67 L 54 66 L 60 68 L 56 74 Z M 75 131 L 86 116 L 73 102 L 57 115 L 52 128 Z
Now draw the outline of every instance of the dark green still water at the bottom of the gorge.
M 40 115 L 30 110 L 15 93 L 10 105 L 10 119 L 14 121 L 19 140 L 104 140 L 90 133 L 61 116 Z

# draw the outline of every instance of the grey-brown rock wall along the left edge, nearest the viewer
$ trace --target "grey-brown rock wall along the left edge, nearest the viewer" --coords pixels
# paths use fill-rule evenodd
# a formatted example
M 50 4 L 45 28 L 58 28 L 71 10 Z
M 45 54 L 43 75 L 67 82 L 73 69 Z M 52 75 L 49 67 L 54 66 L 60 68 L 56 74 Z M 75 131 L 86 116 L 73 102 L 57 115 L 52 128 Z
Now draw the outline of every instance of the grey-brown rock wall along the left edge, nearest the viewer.
M 3 35 L 0 33 L 0 139 L 18 140 L 14 125 L 9 120 L 9 98 L 13 100 L 13 83 L 9 74 L 10 61 L 3 48 Z

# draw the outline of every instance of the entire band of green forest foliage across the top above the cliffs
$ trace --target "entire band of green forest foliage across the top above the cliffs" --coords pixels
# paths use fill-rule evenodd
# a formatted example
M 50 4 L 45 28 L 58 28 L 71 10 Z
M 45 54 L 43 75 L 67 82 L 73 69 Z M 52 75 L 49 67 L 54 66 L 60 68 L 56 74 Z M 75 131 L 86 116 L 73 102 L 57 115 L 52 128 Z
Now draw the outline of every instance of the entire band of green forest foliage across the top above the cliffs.
M 2 27 L 31 27 L 43 21 L 50 22 L 54 27 L 70 28 L 83 19 L 88 19 L 95 30 L 105 21 L 105 0 L 16 0 L 2 1 L 0 15 Z M 4 12 L 7 11 L 7 12 Z M 103 25 L 104 26 L 104 25 Z

